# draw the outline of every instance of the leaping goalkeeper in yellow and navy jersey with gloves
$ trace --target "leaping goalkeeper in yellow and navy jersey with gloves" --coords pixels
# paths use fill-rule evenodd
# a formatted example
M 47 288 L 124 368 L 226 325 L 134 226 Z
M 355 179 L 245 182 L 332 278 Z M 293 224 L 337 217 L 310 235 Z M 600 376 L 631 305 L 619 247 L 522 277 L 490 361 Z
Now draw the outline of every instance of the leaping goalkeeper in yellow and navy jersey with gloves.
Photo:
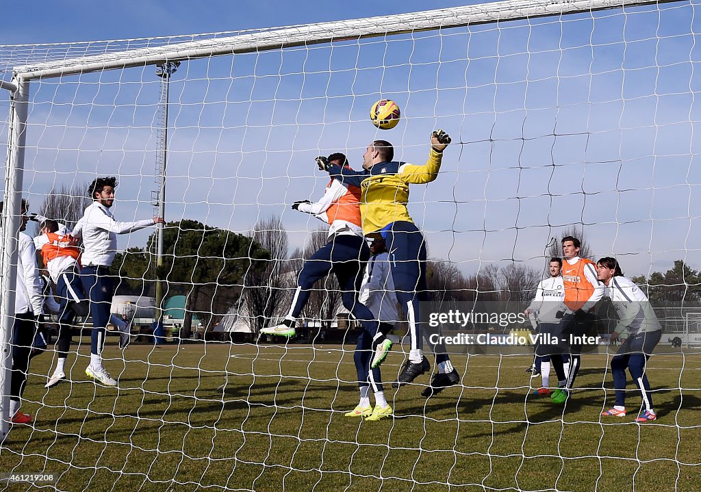
M 423 356 L 423 340 L 419 320 L 420 303 L 426 301 L 426 242 L 409 216 L 409 184 L 427 184 L 438 176 L 443 151 L 450 137 L 442 130 L 431 135 L 431 148 L 425 165 L 393 161 L 394 148 L 390 142 L 375 140 L 363 155 L 363 171 L 342 168 L 319 160 L 319 166 L 343 184 L 359 186 L 362 190 L 360 213 L 363 233 L 370 238 L 382 237 L 388 247 L 390 271 L 394 279 L 397 299 L 409 321 L 411 350 L 409 360 L 393 386 L 410 383 L 430 369 Z M 383 334 L 376 336 L 373 367 L 386 357 L 390 343 L 383 343 Z M 433 376 L 430 391 L 425 396 L 460 381 L 443 347 L 437 350 L 438 372 Z

